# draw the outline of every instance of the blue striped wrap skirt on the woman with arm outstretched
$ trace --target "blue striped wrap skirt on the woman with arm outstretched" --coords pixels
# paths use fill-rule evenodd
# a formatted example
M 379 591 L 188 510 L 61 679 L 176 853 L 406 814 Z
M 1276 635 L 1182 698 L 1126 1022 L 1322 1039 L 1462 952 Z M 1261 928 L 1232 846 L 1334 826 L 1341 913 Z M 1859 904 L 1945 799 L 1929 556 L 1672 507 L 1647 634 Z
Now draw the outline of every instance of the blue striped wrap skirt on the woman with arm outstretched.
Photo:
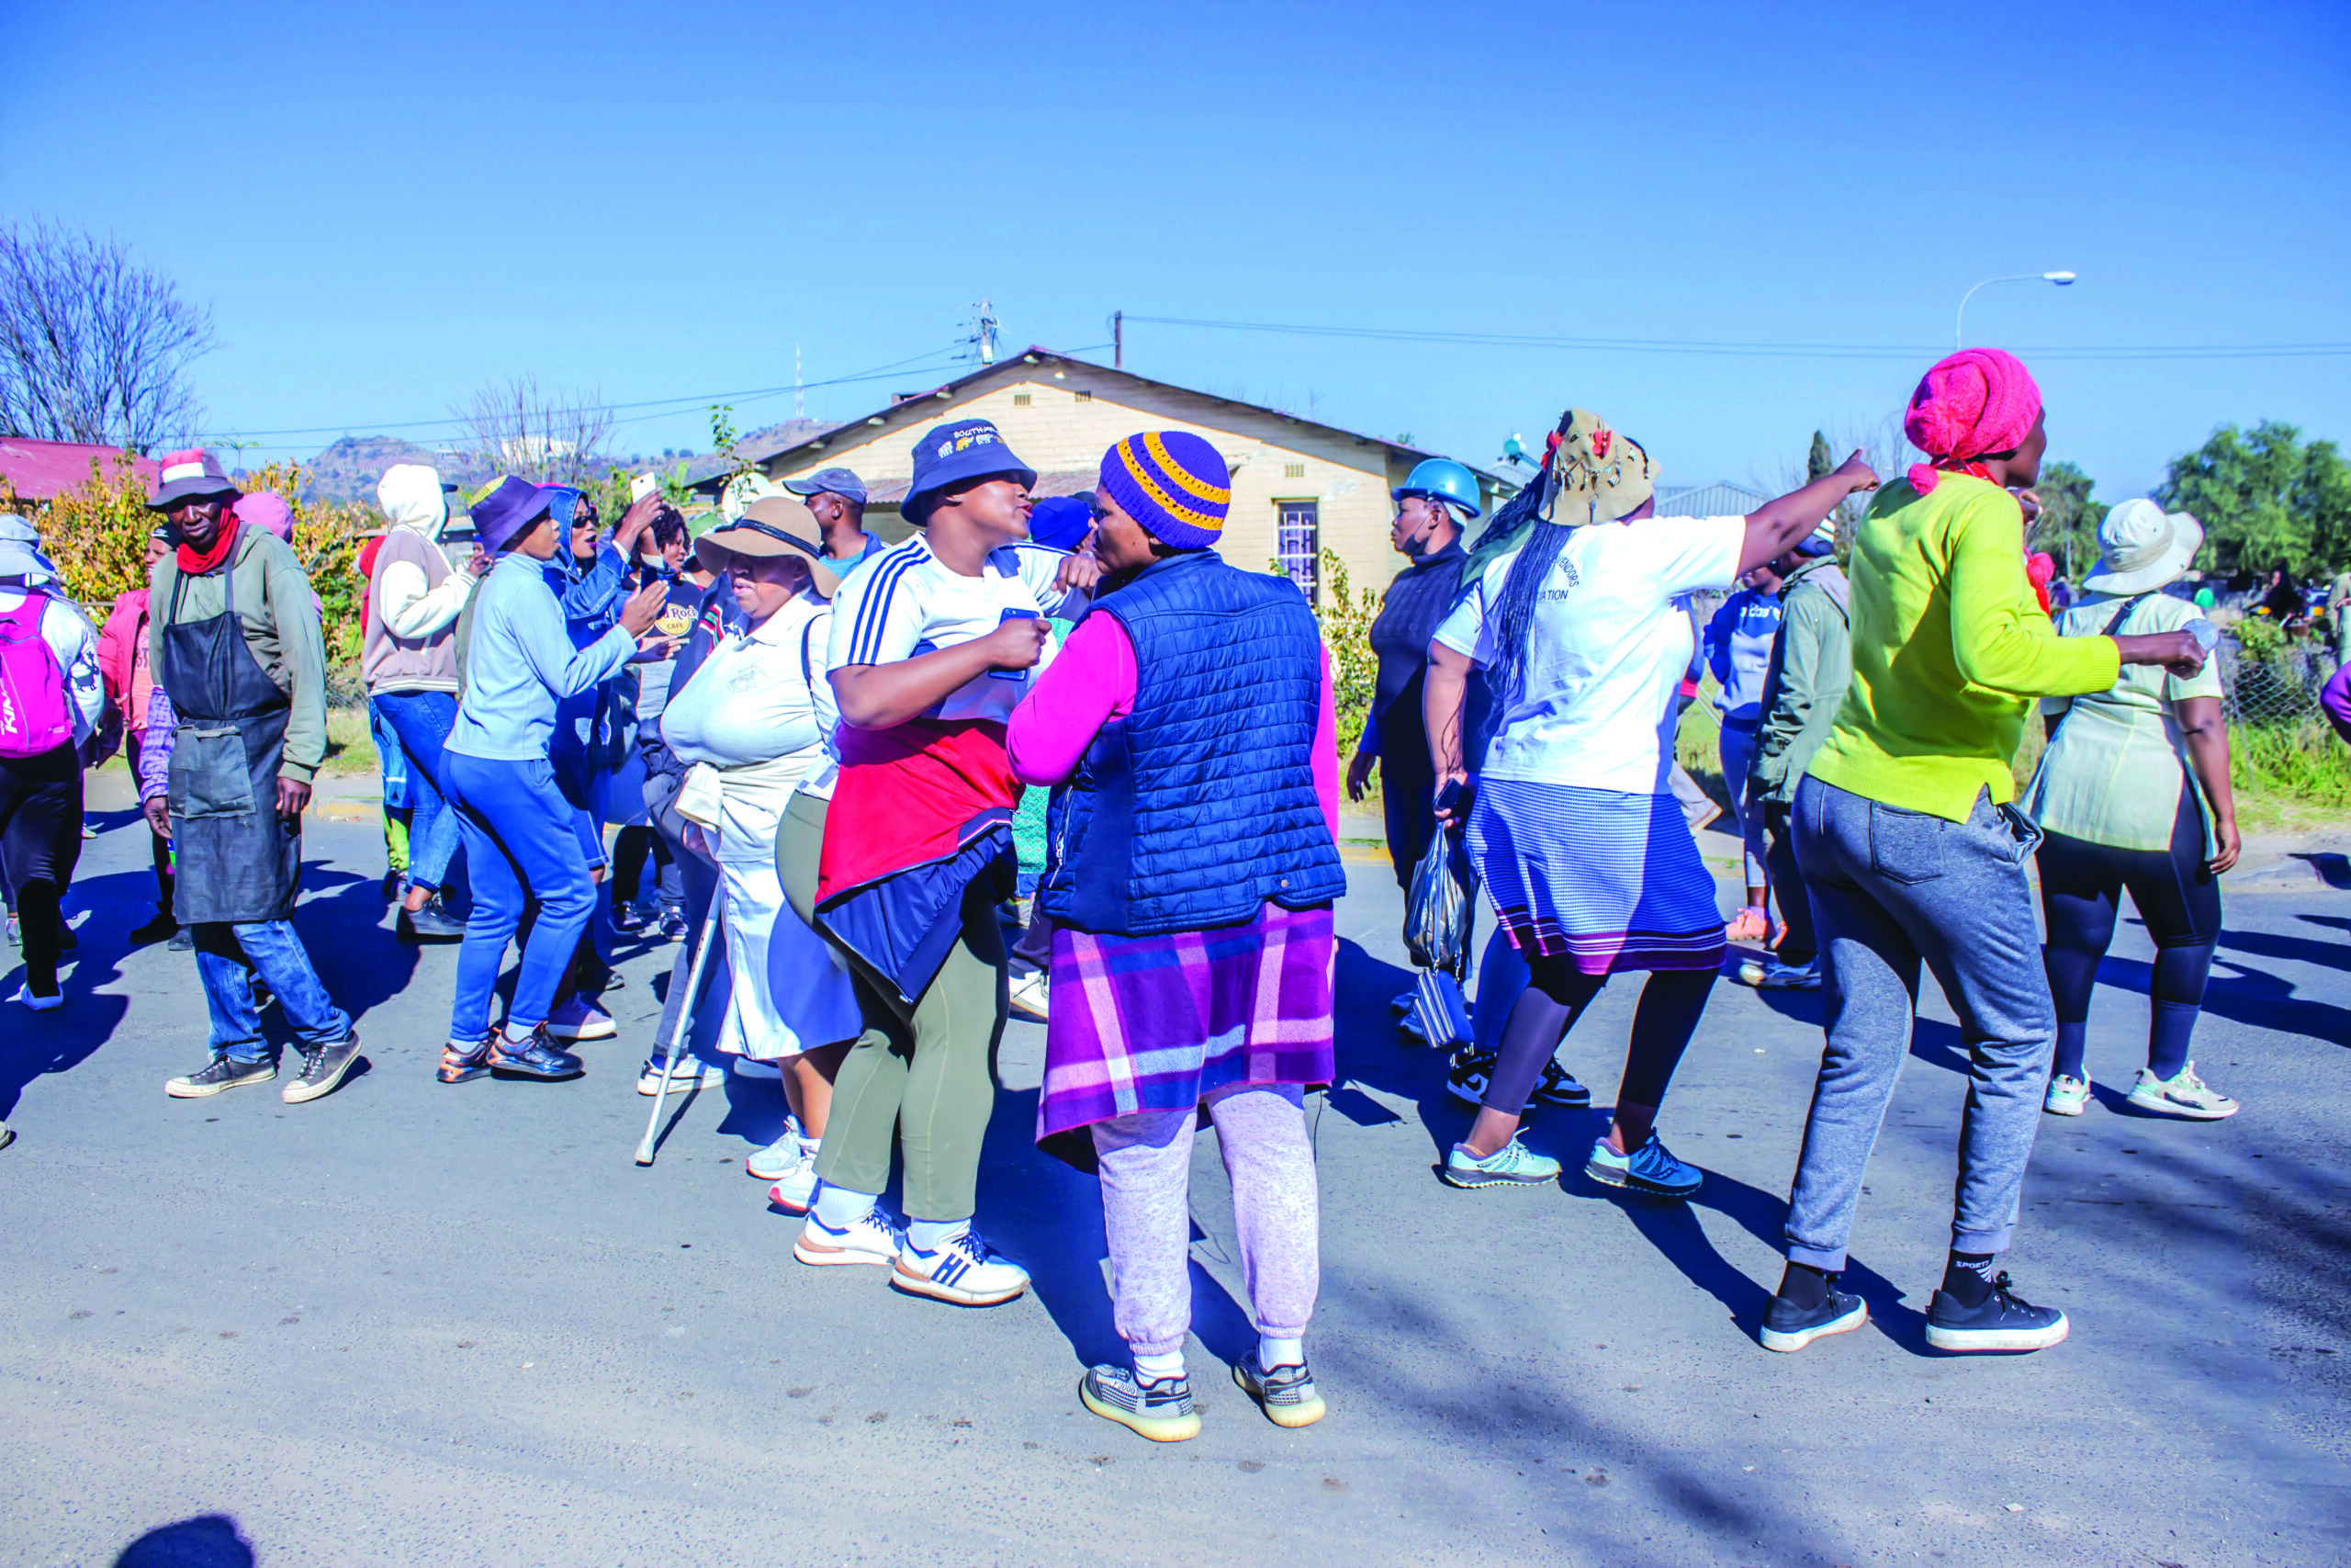
M 1587 976 L 1723 964 L 1714 877 L 1672 795 L 1483 778 L 1469 858 L 1519 952 Z

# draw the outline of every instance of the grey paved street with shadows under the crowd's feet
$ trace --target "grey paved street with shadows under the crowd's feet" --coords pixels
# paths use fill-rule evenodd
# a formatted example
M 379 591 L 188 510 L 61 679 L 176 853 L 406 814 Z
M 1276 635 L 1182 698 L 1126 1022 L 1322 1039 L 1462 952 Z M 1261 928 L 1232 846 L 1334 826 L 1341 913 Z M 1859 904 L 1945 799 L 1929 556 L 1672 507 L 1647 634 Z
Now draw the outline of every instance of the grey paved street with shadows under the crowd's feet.
M 1074 1399 L 1117 1342 L 1093 1182 L 1030 1145 L 1039 1027 L 1004 1041 L 980 1213 L 1037 1291 L 957 1312 L 790 1260 L 792 1222 L 741 1166 L 781 1121 L 773 1086 L 696 1095 L 661 1161 L 630 1161 L 668 950 L 623 966 L 623 1039 L 588 1048 L 585 1081 L 437 1086 L 454 950 L 390 940 L 376 830 L 348 806 L 313 825 L 301 926 L 371 1072 L 308 1107 L 167 1100 L 202 1060 L 202 997 L 186 954 L 125 952 L 146 849 L 125 809 L 96 820 L 71 1004 L 0 1025 L 21 1133 L 0 1154 L 0 1561 L 2346 1559 L 2351 893 L 2295 886 L 2297 863 L 2266 877 L 2285 891 L 2231 893 L 2196 1056 L 2245 1103 L 2233 1121 L 2121 1110 L 2151 954 L 2125 924 L 2099 1103 L 2043 1121 L 2005 1260 L 2074 1338 L 1944 1359 L 1921 1319 L 1963 1098 L 1940 999 L 1855 1234 L 1874 1324 L 1773 1356 L 1751 1335 L 1817 1001 L 1716 990 L 1662 1121 L 1707 1168 L 1688 1208 L 1580 1175 L 1455 1192 L 1432 1166 L 1467 1107 L 1389 1032 L 1399 900 L 1354 856 L 1345 1081 L 1310 1103 L 1331 1418 L 1281 1432 L 1223 1378 L 1248 1326 L 1204 1138 L 1206 1425 L 1154 1448 Z M 1613 985 L 1568 1048 L 1601 1105 L 1632 997 Z M 1601 1126 L 1549 1114 L 1528 1140 L 1580 1168 Z

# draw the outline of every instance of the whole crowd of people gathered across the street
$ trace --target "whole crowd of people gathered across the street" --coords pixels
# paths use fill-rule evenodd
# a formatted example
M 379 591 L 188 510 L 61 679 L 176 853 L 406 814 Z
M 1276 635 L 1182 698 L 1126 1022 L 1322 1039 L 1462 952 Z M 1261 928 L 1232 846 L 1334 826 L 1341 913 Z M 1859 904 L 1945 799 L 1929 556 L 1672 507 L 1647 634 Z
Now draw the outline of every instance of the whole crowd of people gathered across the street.
M 437 1077 L 578 1079 L 581 1041 L 616 1034 L 597 1001 L 618 983 L 611 940 L 677 938 L 639 1091 L 778 1079 L 788 1126 L 748 1168 L 799 1215 L 795 1258 L 987 1307 L 1030 1284 L 976 1225 L 1018 1006 L 1046 1030 L 1034 1140 L 1103 1192 L 1128 1363 L 1084 1373 L 1086 1408 L 1157 1441 L 1199 1429 L 1187 1178 L 1206 1119 L 1258 1328 L 1230 1371 L 1302 1427 L 1324 1413 L 1305 1095 L 1340 1072 L 1340 790 L 1361 799 L 1378 773 L 1399 886 L 1434 853 L 1493 914 L 1474 1006 L 1399 999 L 1476 1105 L 1444 1182 L 1561 1178 L 1523 1119 L 1592 1103 L 1561 1051 L 1613 976 L 1641 976 L 1582 1171 L 1688 1199 L 1707 1175 L 1660 1126 L 1716 978 L 1815 987 L 1824 1051 L 1759 1338 L 1796 1352 L 1860 1328 L 1846 1244 L 1925 966 L 1968 1074 L 1928 1338 L 2055 1345 L 2064 1312 L 2017 1295 L 1998 1260 L 2038 1117 L 2090 1105 L 2085 1018 L 2121 891 L 2158 947 L 2130 1103 L 2236 1110 L 2191 1060 L 2238 853 L 2212 625 L 2163 592 L 2201 531 L 2114 508 L 2052 623 L 2024 552 L 2048 440 L 2024 364 L 1942 360 L 1904 428 L 1925 454 L 1904 475 L 1855 456 L 1744 517 L 1660 515 L 1657 461 L 1587 409 L 1493 517 L 1467 468 L 1420 463 L 1394 491 L 1408 564 L 1345 769 L 1314 611 L 1218 555 L 1232 480 L 1192 433 L 1131 435 L 1091 494 L 1037 501 L 992 423 L 943 423 L 915 444 L 900 543 L 865 529 L 842 468 L 701 536 L 658 491 L 607 536 L 592 496 L 501 477 L 454 559 L 451 487 L 393 468 L 362 675 L 397 933 L 458 945 Z M 153 508 L 148 588 L 103 635 L 54 592 L 38 534 L 0 536 L 16 1001 L 63 1001 L 82 766 L 118 722 L 155 842 L 158 912 L 134 940 L 190 947 L 209 1016 L 205 1060 L 167 1093 L 275 1079 L 273 999 L 301 1056 L 282 1098 L 313 1100 L 360 1056 L 292 922 L 327 752 L 317 599 L 284 505 L 212 456 L 169 456 Z M 1700 625 L 1712 592 L 1730 597 Z M 1693 832 L 1714 806 L 1674 745 L 1709 665 L 1742 856 L 1728 917 Z M 2050 738 L 2017 799 L 2034 703 Z M 722 1006 L 712 1053 L 691 1044 L 701 973 Z

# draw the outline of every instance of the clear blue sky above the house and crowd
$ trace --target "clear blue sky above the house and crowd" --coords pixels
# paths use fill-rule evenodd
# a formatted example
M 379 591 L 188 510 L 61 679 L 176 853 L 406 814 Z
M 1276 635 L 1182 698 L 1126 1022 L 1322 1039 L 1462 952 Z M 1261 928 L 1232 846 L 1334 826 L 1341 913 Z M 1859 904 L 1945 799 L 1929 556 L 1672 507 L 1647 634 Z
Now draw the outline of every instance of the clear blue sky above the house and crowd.
M 611 402 L 929 386 L 1105 317 L 1834 343 L 1411 346 L 1136 324 L 1128 367 L 1493 461 L 1568 404 L 1667 482 L 1768 480 L 1951 341 L 2139 494 L 2217 423 L 2351 442 L 2351 7 L 9 7 L 0 214 L 216 313 L 214 433 L 310 454 L 531 371 Z M 1107 360 L 1107 350 L 1103 350 Z M 738 400 L 743 428 L 790 393 Z M 317 435 L 275 435 L 322 428 Z M 440 430 L 409 430 L 430 440 Z M 698 407 L 621 428 L 705 444 Z

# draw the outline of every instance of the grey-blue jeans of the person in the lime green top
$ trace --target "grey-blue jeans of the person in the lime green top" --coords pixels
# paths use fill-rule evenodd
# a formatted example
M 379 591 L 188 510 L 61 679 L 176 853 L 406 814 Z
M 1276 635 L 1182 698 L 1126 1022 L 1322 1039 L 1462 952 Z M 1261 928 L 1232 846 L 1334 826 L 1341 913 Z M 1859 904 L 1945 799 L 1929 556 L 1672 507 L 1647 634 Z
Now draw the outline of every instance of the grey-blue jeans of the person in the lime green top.
M 1869 1150 L 1909 1056 L 1921 961 L 1968 1051 L 1951 1248 L 2008 1251 L 2057 1039 L 2024 879 L 2038 839 L 1982 792 L 1968 820 L 1951 823 L 1817 778 L 1796 785 L 1829 1039 L 1787 1206 L 1791 1262 L 1846 1267 Z

